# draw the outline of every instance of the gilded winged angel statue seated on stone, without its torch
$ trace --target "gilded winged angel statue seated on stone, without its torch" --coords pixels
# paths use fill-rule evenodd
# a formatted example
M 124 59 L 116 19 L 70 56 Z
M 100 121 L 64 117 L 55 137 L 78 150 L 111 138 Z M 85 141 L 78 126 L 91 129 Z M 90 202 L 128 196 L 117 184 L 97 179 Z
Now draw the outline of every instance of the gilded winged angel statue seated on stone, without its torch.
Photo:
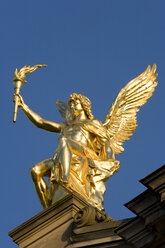
M 68 105 L 57 101 L 64 122 L 41 118 L 15 94 L 30 121 L 44 130 L 60 133 L 53 158 L 46 159 L 30 170 L 43 208 L 68 194 L 77 192 L 98 209 L 103 209 L 105 181 L 119 169 L 115 154 L 124 151 L 123 142 L 136 129 L 136 113 L 157 85 L 156 65 L 130 81 L 117 95 L 102 123 L 91 112 L 90 100 L 72 94 Z M 16 79 L 15 79 L 16 80 Z M 49 177 L 48 182 L 44 177 Z

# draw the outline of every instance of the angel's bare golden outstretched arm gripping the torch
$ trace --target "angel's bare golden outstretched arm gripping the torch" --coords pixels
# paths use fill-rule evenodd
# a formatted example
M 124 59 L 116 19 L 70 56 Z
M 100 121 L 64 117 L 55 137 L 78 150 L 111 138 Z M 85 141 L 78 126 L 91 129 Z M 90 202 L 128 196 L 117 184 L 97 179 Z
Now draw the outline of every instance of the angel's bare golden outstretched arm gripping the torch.
M 23 98 L 19 96 L 19 104 L 18 106 L 22 109 L 25 115 L 29 118 L 29 120 L 38 128 L 42 128 L 49 132 L 61 133 L 64 127 L 63 122 L 53 122 L 43 119 L 41 116 L 36 114 L 33 110 L 31 110 L 23 101 Z

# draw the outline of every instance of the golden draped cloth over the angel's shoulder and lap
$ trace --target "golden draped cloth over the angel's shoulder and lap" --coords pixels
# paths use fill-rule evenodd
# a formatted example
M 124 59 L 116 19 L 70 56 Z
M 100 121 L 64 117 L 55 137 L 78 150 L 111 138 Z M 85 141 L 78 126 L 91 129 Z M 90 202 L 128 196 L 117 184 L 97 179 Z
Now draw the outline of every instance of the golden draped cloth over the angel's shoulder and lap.
M 81 133 L 85 135 L 85 131 L 91 132 L 95 135 L 96 139 L 93 143 L 88 140 L 88 145 L 85 146 L 80 142 L 76 142 L 81 146 L 83 153 L 77 155 L 72 151 L 72 161 L 70 168 L 69 191 L 76 191 L 83 196 L 93 206 L 103 209 L 103 196 L 105 193 L 105 182 L 114 172 L 119 169 L 119 161 L 114 159 L 106 159 L 105 145 L 100 142 L 99 138 L 106 138 L 106 130 L 101 126 L 98 121 L 85 121 L 76 123 L 80 125 Z M 67 139 L 67 138 L 66 138 Z M 71 139 L 68 138 L 68 142 Z M 58 185 L 62 184 L 62 168 L 59 161 L 60 150 L 57 148 L 53 157 L 54 166 L 51 170 L 50 181 L 55 181 L 56 185 L 53 187 L 52 199 L 56 199 L 56 194 L 59 193 Z

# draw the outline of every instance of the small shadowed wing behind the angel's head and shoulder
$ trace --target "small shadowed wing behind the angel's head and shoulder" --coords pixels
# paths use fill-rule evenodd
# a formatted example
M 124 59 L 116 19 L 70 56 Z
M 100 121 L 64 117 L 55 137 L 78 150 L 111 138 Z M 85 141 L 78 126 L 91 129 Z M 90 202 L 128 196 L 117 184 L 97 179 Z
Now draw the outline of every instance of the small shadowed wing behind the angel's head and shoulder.
M 68 105 L 65 102 L 61 102 L 59 100 L 56 101 L 56 105 L 57 108 L 61 114 L 61 117 L 66 121 L 72 121 L 73 120 L 73 116 L 72 116 L 72 112 L 70 110 L 70 108 L 68 107 Z

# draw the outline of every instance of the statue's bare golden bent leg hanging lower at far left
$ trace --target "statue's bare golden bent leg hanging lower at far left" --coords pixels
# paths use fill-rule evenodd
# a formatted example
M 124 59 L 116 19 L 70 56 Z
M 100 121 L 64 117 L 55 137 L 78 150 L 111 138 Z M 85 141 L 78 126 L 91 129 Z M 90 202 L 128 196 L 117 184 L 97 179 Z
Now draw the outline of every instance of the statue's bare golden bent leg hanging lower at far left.
M 43 177 L 50 177 L 53 165 L 53 160 L 47 159 L 30 169 L 30 174 L 43 208 L 50 206 L 50 190 Z

